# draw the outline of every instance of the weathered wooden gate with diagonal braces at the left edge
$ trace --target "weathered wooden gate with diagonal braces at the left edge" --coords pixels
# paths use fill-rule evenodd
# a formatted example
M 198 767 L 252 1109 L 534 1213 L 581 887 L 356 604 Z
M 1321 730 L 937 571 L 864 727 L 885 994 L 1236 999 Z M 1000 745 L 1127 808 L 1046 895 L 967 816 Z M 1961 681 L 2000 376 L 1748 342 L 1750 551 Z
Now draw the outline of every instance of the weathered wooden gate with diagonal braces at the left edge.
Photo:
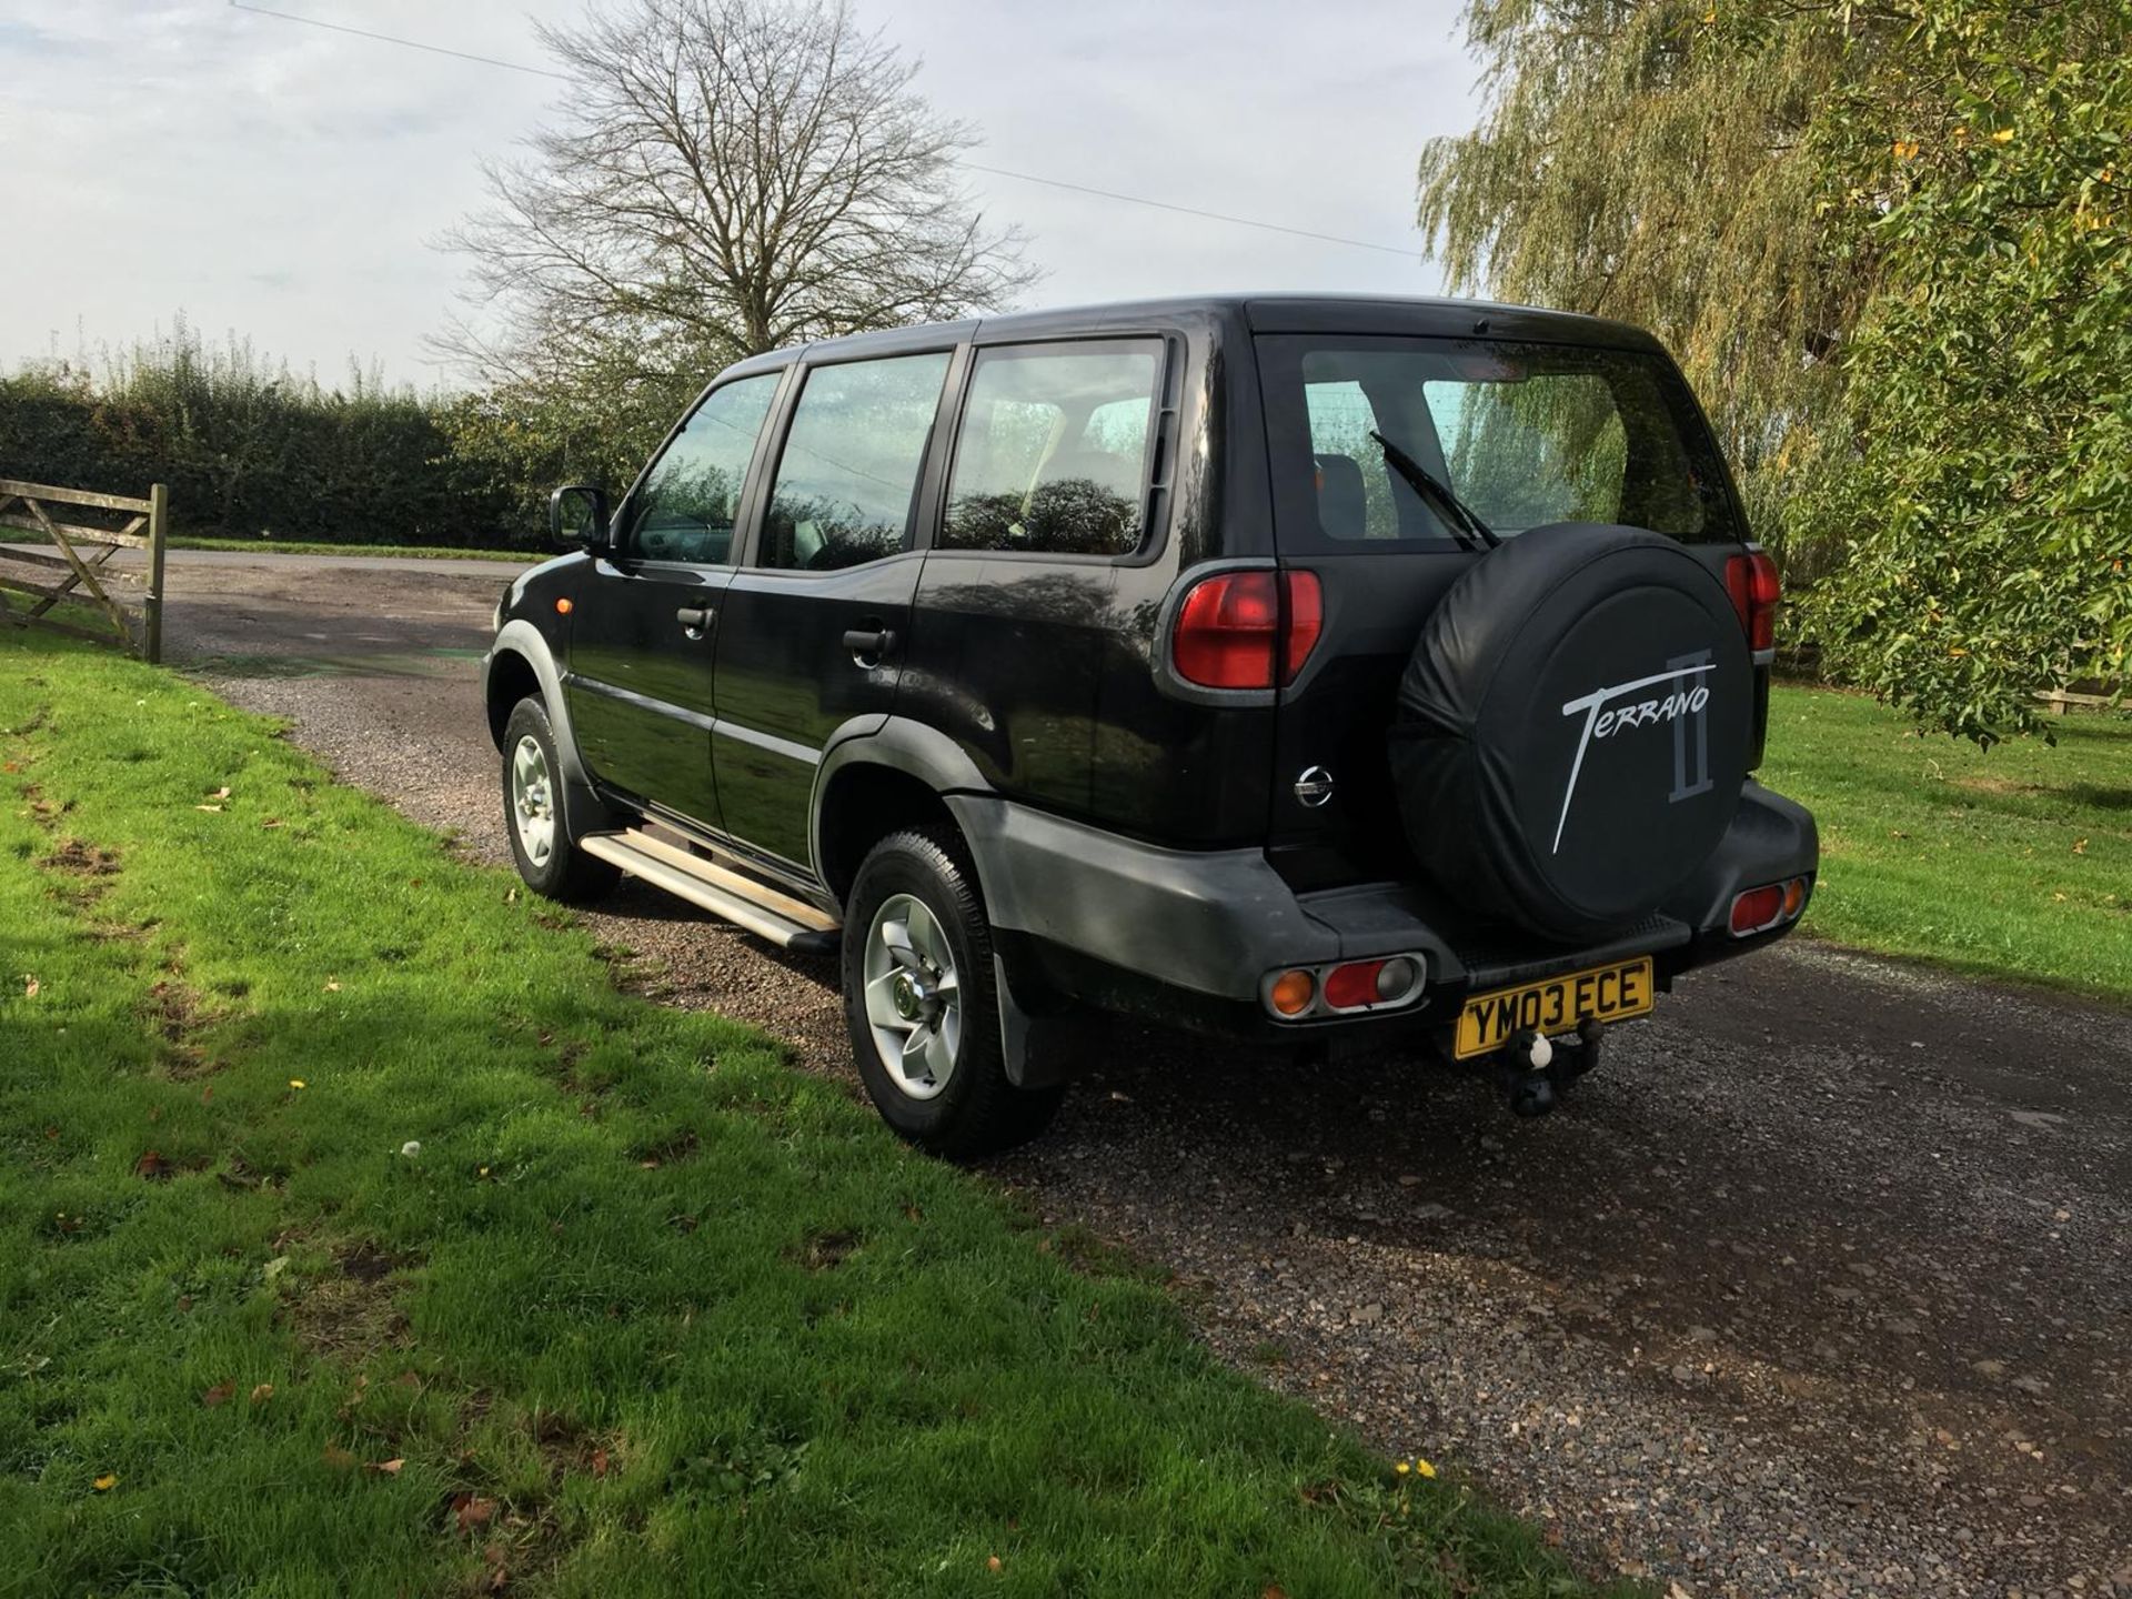
M 115 527 L 94 527 L 85 520 L 62 522 L 49 507 L 81 507 L 90 518 L 113 522 Z M 68 512 L 81 516 L 81 512 Z M 0 563 L 21 561 L 32 567 L 55 567 L 58 580 L 28 582 L 26 578 L 0 571 L 0 591 L 32 595 L 34 605 L 9 603 L 0 593 L 0 623 L 15 627 L 45 627 L 53 633 L 96 640 L 100 644 L 119 642 L 136 650 L 147 661 L 162 661 L 162 548 L 171 522 L 171 490 L 156 484 L 147 499 L 126 499 L 124 495 L 96 495 L 87 488 L 53 488 L 51 484 L 17 484 L 0 478 L 0 527 L 17 527 L 28 533 L 43 533 L 58 554 L 43 550 L 0 550 Z M 117 576 L 104 563 L 117 550 L 147 550 L 147 595 L 141 601 L 139 629 L 134 614 L 111 597 L 107 578 Z M 85 554 L 87 552 L 87 554 Z M 60 601 L 100 610 L 111 623 L 109 631 L 75 627 L 55 620 L 51 608 Z

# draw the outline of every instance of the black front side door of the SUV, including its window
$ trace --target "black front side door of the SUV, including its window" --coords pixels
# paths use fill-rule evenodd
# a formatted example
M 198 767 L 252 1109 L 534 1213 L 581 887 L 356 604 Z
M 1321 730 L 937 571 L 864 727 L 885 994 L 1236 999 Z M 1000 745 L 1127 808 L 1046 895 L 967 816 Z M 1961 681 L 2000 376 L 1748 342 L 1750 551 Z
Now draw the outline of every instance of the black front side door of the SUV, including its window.
M 584 763 L 646 810 L 718 827 L 710 768 L 718 608 L 733 529 L 782 373 L 710 390 L 616 516 L 574 595 L 565 699 Z

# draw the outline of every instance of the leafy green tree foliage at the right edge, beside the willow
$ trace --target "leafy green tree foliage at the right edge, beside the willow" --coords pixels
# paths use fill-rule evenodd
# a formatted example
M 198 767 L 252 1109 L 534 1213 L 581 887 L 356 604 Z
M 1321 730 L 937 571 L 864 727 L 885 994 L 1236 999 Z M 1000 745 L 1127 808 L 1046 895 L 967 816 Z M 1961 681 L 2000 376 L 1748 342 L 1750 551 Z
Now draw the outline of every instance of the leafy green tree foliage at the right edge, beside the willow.
M 1827 663 L 1953 733 L 2132 661 L 2132 4 L 1929 0 L 1829 115 L 1885 252 L 1855 446 L 1808 501 L 1851 563 Z

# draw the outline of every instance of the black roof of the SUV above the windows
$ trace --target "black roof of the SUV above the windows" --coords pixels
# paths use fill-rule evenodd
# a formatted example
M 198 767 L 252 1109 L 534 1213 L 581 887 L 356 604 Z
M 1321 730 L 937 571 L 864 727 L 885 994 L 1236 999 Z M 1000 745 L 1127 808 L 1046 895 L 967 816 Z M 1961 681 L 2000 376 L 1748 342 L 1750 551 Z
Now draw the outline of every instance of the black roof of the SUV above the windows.
M 887 354 L 895 348 L 962 339 L 1030 339 L 1051 335 L 1132 333 L 1151 326 L 1241 318 L 1251 333 L 1339 333 L 1437 339 L 1537 339 L 1546 343 L 1590 343 L 1625 350 L 1657 350 L 1644 328 L 1578 311 L 1548 311 L 1497 301 L 1420 298 L 1399 294 L 1179 294 L 1158 301 L 1113 301 L 1064 305 L 1034 311 L 1004 311 L 964 322 L 932 322 L 908 328 L 821 339 L 763 356 L 740 367 L 785 365 L 800 354 Z

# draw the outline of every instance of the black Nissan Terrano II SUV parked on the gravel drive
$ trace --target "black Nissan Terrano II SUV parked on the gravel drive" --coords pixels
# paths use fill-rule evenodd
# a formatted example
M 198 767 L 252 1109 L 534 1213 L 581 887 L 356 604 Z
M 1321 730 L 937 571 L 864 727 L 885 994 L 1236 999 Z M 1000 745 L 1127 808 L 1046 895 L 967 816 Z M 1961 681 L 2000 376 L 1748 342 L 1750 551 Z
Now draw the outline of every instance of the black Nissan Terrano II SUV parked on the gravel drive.
M 859 1072 L 955 1156 L 1092 1013 L 1409 1043 L 1520 1111 L 1782 936 L 1748 778 L 1776 571 L 1648 335 L 1241 296 L 721 373 L 484 667 L 518 870 L 842 951 Z

